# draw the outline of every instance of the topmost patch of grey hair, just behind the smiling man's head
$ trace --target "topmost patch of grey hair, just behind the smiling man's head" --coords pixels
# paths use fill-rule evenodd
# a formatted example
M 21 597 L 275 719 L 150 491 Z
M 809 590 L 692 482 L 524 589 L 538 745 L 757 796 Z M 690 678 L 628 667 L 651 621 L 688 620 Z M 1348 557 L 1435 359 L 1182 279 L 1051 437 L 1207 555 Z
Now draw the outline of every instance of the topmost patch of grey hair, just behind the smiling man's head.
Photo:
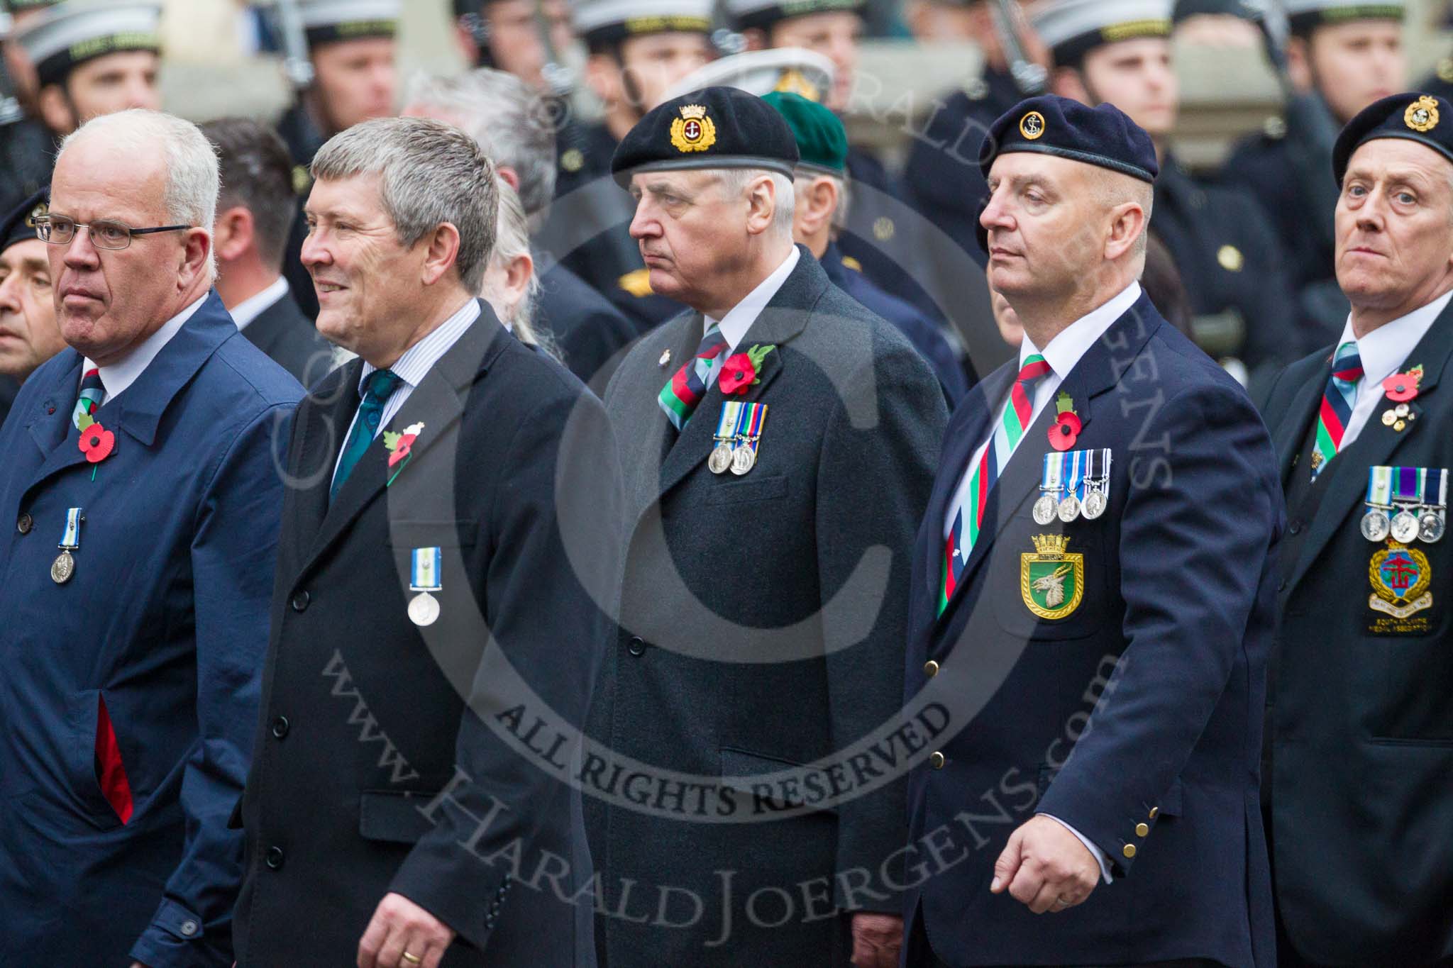
M 456 119 L 494 164 L 514 168 L 525 212 L 543 219 L 555 197 L 555 119 L 539 91 L 485 67 L 458 77 L 416 74 L 404 103 Z

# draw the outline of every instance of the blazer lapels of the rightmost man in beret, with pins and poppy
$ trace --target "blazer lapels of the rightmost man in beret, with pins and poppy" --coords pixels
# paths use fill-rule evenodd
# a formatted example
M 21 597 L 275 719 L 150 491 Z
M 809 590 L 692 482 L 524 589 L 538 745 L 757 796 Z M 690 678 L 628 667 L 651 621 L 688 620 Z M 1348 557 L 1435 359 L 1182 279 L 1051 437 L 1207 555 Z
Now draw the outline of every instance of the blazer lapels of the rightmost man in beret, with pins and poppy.
M 1414 440 L 1418 434 L 1436 432 L 1425 428 L 1428 417 L 1424 414 L 1420 401 L 1437 387 L 1444 369 L 1447 369 L 1450 354 L 1453 354 L 1453 305 L 1443 311 L 1443 315 L 1437 318 L 1433 328 L 1428 329 L 1427 335 L 1414 347 L 1402 364 L 1402 370 L 1418 364 L 1422 366 L 1422 382 L 1418 386 L 1418 396 L 1408 403 L 1414 419 L 1409 419 L 1404 430 L 1396 431 L 1383 425 L 1379 419 L 1382 415 L 1380 409 L 1373 409 L 1357 440 L 1347 450 L 1340 451 L 1327 464 L 1327 470 L 1322 472 L 1327 479 L 1321 485 L 1327 486 L 1328 491 L 1322 496 L 1321 508 L 1306 534 L 1302 557 L 1287 576 L 1290 588 L 1295 588 L 1302 581 L 1302 576 L 1311 569 L 1312 563 L 1322 553 L 1322 549 L 1327 547 L 1327 543 L 1343 527 L 1347 515 L 1363 505 L 1367 493 L 1366 469 L 1391 464 L 1393 454 L 1407 441 Z M 1322 385 L 1325 385 L 1325 379 Z M 1382 386 L 1369 386 L 1364 389 L 1377 395 L 1383 392 Z M 1318 396 L 1321 396 L 1321 392 L 1318 389 Z M 1386 401 L 1386 406 L 1392 406 L 1392 402 Z

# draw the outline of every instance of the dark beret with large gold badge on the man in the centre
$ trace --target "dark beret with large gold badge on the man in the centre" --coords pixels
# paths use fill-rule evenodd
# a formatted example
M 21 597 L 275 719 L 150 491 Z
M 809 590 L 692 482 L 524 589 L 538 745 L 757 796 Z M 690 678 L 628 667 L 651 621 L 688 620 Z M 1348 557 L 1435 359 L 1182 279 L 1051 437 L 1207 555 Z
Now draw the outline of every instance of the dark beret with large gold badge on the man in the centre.
M 654 107 L 616 148 L 610 173 L 626 187 L 636 171 L 766 168 L 789 179 L 798 142 L 772 104 L 735 87 L 706 87 Z

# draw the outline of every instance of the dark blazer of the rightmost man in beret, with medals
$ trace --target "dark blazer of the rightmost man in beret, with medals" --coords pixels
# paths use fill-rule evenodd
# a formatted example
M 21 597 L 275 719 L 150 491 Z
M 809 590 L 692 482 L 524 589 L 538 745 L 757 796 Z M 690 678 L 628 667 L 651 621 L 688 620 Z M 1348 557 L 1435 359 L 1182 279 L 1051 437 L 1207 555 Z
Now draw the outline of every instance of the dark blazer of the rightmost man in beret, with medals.
M 1290 504 L 1264 781 L 1277 911 L 1303 958 L 1431 964 L 1453 955 L 1453 540 L 1408 546 L 1431 602 L 1393 621 L 1369 573 L 1388 544 L 1359 522 L 1369 467 L 1453 469 L 1453 308 L 1399 367 L 1424 369 L 1405 425 L 1379 402 L 1308 486 L 1331 357 L 1287 367 L 1264 409 Z

